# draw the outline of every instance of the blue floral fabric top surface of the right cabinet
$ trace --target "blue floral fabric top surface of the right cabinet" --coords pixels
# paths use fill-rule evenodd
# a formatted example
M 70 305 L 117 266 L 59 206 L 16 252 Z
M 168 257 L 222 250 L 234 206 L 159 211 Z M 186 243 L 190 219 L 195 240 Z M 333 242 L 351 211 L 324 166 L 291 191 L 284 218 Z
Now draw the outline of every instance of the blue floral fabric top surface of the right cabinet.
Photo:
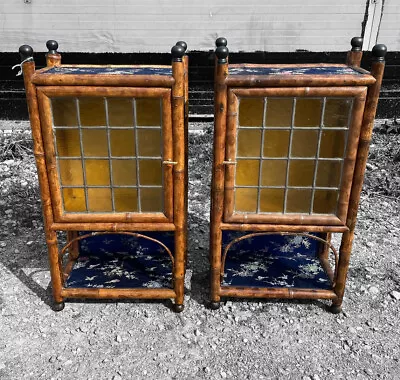
M 229 68 L 229 75 L 361 75 L 361 73 L 348 66 L 241 66 Z

